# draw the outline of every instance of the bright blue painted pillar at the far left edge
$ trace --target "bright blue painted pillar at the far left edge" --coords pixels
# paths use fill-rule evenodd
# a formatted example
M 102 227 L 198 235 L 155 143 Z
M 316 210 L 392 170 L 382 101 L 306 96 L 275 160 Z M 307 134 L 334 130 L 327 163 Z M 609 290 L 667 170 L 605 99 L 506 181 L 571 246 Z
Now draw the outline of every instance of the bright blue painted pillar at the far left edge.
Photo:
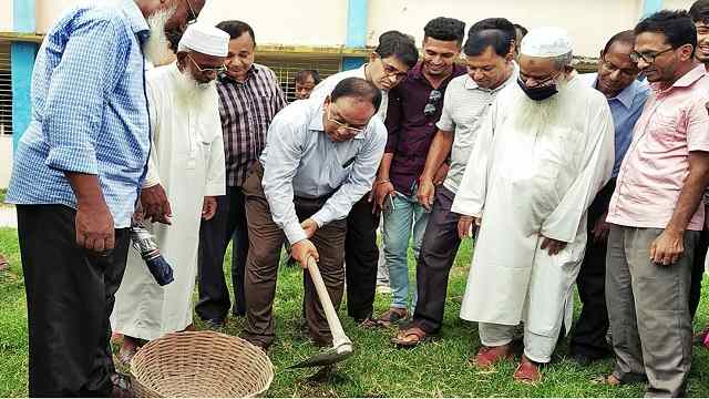
M 34 0 L 13 0 L 12 22 L 16 32 L 34 33 Z M 10 61 L 12 70 L 12 142 L 17 147 L 20 137 L 30 124 L 32 104 L 32 69 L 37 44 L 31 42 L 12 42 Z

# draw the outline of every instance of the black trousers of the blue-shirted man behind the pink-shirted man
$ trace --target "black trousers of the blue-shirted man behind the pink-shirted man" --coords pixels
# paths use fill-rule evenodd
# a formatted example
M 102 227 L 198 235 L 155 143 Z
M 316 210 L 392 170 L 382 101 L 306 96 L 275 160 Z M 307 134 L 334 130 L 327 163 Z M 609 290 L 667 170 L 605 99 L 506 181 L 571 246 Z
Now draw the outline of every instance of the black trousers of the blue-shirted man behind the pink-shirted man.
M 571 351 L 589 358 L 610 356 L 606 341 L 608 309 L 606 308 L 606 249 L 608 242 L 594 242 L 590 233 L 596 221 L 607 212 L 615 191 L 615 180 L 608 182 L 588 207 L 586 254 L 582 263 L 576 287 L 583 304 L 580 316 L 572 331 Z

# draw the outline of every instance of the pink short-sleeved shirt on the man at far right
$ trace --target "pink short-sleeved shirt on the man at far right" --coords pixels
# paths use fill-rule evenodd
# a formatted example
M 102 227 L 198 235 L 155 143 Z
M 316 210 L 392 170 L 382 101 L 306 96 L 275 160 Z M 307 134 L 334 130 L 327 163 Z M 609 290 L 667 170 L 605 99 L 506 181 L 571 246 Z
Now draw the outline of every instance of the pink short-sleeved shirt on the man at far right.
M 689 174 L 689 153 L 709 152 L 709 75 L 698 65 L 675 84 L 653 94 L 635 130 L 620 166 L 607 221 L 613 224 L 665 228 Z M 689 225 L 701 231 L 705 208 L 699 206 Z

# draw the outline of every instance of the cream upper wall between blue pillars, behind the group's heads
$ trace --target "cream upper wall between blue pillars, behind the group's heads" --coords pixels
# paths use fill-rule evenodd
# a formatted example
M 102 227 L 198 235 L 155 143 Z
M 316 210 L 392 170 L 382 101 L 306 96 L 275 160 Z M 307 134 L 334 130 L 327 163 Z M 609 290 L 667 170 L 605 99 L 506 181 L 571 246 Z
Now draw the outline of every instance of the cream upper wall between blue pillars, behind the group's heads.
M 38 31 L 44 33 L 63 10 L 81 0 L 35 1 Z M 686 9 L 691 3 L 692 0 L 665 0 L 664 7 Z M 254 27 L 259 43 L 345 43 L 347 0 L 266 0 L 250 2 L 248 7 L 234 4 L 238 3 L 209 0 L 199 18 L 208 23 L 224 19 L 247 21 Z M 483 18 L 504 16 L 527 28 L 548 24 L 565 28 L 574 39 L 575 52 L 593 57 L 610 35 L 631 29 L 641 12 L 643 0 L 370 0 L 368 43 L 374 44 L 379 34 L 391 29 L 413 34 L 420 43 L 423 25 L 434 17 L 455 17 L 470 25 Z

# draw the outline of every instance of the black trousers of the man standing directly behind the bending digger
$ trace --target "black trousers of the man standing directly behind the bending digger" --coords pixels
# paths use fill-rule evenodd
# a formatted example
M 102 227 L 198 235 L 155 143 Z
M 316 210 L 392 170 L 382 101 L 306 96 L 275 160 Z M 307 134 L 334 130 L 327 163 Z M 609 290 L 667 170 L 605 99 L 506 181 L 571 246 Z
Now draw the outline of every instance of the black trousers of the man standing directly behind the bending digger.
M 377 227 L 379 212 L 372 214 L 372 203 L 366 194 L 347 216 L 345 237 L 345 278 L 347 282 L 347 314 L 357 321 L 372 316 L 377 290 Z

